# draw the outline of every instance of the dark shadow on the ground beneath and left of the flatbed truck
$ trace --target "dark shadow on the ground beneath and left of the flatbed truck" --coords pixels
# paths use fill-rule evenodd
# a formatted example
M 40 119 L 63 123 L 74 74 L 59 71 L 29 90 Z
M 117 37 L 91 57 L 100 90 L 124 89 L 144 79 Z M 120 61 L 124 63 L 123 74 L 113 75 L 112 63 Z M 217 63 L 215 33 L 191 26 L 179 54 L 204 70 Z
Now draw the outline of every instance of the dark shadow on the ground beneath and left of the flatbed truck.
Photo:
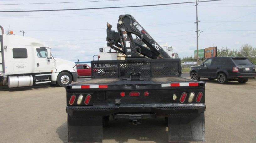
M 63 123 L 56 130 L 56 133 L 64 143 L 68 142 L 67 122 Z M 145 141 L 168 142 L 168 127 L 164 118 L 145 119 L 142 120 L 140 125 L 131 125 L 128 120 L 113 120 L 111 118 L 109 125 L 103 128 L 103 142 L 127 143 Z

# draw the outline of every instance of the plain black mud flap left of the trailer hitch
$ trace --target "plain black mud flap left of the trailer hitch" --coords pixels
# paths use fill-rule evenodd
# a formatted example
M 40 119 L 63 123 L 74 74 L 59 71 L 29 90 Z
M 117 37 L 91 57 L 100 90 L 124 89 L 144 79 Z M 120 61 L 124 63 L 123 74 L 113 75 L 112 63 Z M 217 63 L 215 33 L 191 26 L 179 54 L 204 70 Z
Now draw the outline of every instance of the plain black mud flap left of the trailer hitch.
M 68 142 L 102 142 L 102 116 L 67 115 Z

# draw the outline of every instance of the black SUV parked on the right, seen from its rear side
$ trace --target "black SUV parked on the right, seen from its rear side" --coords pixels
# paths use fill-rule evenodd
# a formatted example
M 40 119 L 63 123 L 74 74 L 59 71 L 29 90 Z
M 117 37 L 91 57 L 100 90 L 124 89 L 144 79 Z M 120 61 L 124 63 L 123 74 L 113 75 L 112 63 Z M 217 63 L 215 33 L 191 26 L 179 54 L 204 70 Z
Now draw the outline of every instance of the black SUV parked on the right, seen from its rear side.
M 228 81 L 246 83 L 248 78 L 255 78 L 255 66 L 246 57 L 211 57 L 201 66 L 191 67 L 190 77 L 199 80 L 201 77 L 209 80 L 217 79 L 220 84 Z

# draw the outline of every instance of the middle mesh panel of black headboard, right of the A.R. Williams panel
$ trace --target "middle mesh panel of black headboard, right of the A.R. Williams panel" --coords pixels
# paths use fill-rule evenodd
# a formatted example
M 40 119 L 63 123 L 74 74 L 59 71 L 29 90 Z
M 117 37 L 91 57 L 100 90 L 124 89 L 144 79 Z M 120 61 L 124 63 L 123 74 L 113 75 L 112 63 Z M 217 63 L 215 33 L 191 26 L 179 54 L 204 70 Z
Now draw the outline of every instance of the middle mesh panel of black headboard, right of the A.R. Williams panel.
M 120 63 L 121 76 L 129 77 L 130 73 L 140 73 L 141 77 L 150 77 L 150 62 Z

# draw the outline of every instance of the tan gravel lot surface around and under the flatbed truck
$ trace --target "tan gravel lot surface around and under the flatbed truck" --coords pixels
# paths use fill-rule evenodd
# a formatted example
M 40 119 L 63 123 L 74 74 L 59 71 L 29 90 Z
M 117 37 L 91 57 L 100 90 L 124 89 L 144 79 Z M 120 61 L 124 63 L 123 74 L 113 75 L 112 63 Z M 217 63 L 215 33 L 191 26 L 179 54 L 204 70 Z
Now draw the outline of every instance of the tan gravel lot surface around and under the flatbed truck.
M 207 82 L 206 142 L 256 142 L 256 80 L 246 84 Z M 66 92 L 64 87 L 35 86 L 0 91 L 0 139 L 10 142 L 67 142 Z M 104 143 L 168 142 L 163 118 L 109 121 L 103 129 Z

